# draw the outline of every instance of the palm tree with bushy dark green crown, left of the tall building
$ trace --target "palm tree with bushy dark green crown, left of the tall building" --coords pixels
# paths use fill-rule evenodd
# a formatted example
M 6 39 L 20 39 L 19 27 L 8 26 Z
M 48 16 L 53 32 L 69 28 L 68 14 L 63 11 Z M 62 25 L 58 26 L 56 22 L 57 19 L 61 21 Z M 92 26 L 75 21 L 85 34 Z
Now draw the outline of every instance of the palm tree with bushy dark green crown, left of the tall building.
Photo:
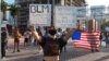
M 19 7 L 16 4 L 11 4 L 11 8 L 9 10 L 14 20 L 14 26 L 15 26 L 15 17 L 19 15 Z

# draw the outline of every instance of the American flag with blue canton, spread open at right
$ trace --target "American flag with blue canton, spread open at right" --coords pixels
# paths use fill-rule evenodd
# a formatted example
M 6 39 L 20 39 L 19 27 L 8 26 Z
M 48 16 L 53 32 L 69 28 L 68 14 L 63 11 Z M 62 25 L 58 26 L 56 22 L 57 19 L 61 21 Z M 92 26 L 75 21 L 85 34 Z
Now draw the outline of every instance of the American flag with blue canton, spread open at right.
M 97 49 L 99 47 L 99 32 L 74 32 L 73 46 L 76 48 L 85 48 L 85 49 Z

